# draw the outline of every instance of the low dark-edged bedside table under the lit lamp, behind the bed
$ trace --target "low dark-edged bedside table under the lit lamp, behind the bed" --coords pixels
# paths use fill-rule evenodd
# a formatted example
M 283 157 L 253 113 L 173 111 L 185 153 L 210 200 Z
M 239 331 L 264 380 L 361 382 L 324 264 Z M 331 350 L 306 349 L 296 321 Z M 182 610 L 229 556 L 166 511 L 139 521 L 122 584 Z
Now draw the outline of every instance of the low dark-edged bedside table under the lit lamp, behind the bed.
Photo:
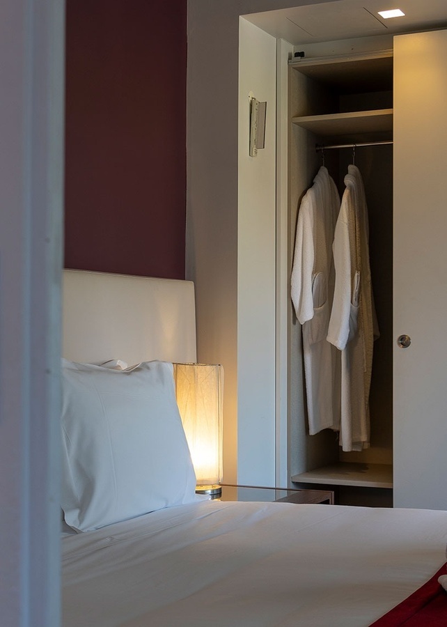
M 332 490 L 297 490 L 288 488 L 262 488 L 259 486 L 234 486 L 222 483 L 221 501 L 265 501 L 284 503 L 327 503 L 334 505 Z

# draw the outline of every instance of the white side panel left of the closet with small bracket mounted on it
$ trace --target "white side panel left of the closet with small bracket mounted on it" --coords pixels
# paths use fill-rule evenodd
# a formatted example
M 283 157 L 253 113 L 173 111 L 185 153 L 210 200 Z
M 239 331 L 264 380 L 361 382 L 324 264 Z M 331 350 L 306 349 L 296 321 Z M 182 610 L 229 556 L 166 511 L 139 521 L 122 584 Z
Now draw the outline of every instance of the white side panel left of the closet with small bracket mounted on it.
M 267 102 L 249 156 L 249 95 Z M 237 220 L 237 482 L 275 484 L 276 39 L 240 20 Z

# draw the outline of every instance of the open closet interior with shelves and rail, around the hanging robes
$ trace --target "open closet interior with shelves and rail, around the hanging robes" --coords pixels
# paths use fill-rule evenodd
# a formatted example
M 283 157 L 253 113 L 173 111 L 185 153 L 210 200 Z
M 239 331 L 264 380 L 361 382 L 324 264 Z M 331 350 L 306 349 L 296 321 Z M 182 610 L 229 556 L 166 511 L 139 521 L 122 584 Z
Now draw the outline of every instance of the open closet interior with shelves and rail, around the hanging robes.
M 340 197 L 348 165 L 363 176 L 370 225 L 370 267 L 380 336 L 374 343 L 370 389 L 370 448 L 343 452 L 337 433 L 308 435 L 295 425 L 299 442 L 292 475 L 298 487 L 336 491 L 341 504 L 393 504 L 393 52 L 391 50 L 289 62 L 289 199 L 292 231 L 304 193 L 324 164 Z M 294 233 L 290 233 L 293 245 Z M 292 320 L 292 371 L 300 371 L 300 325 Z M 293 362 L 295 360 L 295 366 Z M 304 378 L 291 376 L 295 386 Z M 294 398 L 295 396 L 295 398 Z M 292 464 L 293 466 L 294 464 Z

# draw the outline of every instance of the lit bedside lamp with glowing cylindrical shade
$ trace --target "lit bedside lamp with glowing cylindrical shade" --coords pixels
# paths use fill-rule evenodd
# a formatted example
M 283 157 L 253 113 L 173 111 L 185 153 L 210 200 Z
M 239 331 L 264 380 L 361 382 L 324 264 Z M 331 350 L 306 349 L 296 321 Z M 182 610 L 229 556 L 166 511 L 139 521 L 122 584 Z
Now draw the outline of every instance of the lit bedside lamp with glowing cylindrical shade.
M 175 394 L 196 471 L 196 492 L 221 492 L 222 366 L 174 364 Z

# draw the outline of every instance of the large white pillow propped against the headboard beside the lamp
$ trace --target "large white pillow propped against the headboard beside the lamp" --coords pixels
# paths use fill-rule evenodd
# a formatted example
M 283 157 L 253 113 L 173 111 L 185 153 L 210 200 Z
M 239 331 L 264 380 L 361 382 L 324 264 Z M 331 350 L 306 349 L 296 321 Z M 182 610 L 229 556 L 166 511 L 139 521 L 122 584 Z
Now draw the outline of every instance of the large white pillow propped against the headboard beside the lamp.
M 63 359 L 65 521 L 88 531 L 196 500 L 173 366 L 113 370 Z

